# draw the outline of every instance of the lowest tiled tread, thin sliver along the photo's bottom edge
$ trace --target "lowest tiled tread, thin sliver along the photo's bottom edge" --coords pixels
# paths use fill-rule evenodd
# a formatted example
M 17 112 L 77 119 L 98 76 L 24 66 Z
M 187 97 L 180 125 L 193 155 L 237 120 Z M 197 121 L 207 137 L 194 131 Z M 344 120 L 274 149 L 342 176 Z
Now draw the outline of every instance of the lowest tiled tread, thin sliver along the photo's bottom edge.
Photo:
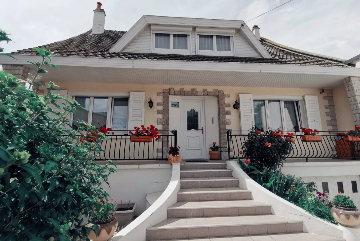
M 168 239 L 166 241 L 175 240 Z M 221 238 L 185 238 L 181 239 L 181 241 L 345 241 L 345 238 L 334 238 L 313 233 L 280 233 L 270 235 L 233 236 Z

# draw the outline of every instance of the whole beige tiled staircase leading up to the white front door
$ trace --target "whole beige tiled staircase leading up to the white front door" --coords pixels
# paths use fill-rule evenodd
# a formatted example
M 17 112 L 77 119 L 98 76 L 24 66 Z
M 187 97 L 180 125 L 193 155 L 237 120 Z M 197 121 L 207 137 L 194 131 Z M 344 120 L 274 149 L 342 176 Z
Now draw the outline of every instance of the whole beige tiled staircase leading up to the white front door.
M 344 241 L 303 232 L 302 221 L 273 215 L 224 162 L 180 163 L 177 203 L 167 219 L 147 229 L 147 240 Z

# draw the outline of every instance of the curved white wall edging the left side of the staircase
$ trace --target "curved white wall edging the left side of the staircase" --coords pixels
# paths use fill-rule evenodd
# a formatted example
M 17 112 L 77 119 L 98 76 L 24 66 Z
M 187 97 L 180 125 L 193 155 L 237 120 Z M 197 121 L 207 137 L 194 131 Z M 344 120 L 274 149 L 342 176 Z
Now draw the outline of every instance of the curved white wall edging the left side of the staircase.
M 146 229 L 167 218 L 167 208 L 176 203 L 180 190 L 180 163 L 172 163 L 172 175 L 163 194 L 138 218 L 111 238 L 111 241 L 145 241 Z

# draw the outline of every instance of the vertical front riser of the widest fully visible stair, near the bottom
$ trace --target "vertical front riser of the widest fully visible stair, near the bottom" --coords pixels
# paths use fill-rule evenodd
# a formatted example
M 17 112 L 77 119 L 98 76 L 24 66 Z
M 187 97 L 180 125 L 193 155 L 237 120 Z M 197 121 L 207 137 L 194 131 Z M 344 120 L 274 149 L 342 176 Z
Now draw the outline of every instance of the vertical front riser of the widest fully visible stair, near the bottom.
M 266 235 L 303 232 L 302 223 L 253 224 L 242 226 L 174 228 L 147 230 L 147 240 L 173 240 L 227 236 Z

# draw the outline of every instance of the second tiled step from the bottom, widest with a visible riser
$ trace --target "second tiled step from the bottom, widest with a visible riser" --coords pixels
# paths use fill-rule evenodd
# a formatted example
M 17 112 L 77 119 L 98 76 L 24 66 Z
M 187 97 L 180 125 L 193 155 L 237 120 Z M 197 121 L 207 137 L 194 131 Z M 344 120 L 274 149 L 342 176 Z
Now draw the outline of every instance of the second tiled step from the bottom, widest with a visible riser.
M 147 229 L 147 240 L 303 232 L 302 221 L 276 215 L 169 218 Z

